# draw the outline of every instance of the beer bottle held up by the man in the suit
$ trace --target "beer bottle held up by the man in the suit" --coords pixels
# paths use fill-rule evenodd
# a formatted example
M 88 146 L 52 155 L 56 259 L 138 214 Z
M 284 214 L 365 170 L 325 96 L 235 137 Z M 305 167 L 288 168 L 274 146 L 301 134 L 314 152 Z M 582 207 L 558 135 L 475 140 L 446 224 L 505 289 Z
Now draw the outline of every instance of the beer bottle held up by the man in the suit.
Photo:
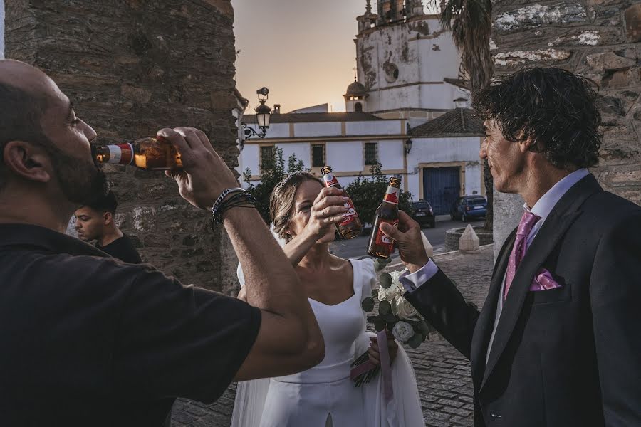
M 368 254 L 376 258 L 387 260 L 394 252 L 394 241 L 380 231 L 381 223 L 398 225 L 398 196 L 400 194 L 400 178 L 390 178 L 390 185 L 387 186 L 385 197 L 376 209 L 374 226 L 368 243 Z

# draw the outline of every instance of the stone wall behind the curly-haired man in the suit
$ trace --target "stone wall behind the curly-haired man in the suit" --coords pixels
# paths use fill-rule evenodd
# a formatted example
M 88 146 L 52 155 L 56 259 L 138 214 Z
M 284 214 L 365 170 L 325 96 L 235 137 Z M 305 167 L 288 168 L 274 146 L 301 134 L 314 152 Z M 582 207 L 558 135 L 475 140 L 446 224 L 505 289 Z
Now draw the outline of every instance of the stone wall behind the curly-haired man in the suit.
M 641 204 L 641 1 L 492 3 L 495 73 L 553 65 L 598 83 L 603 144 L 600 165 L 591 172 L 605 189 Z M 523 201 L 495 193 L 494 203 L 500 246 L 506 229 L 518 223 Z

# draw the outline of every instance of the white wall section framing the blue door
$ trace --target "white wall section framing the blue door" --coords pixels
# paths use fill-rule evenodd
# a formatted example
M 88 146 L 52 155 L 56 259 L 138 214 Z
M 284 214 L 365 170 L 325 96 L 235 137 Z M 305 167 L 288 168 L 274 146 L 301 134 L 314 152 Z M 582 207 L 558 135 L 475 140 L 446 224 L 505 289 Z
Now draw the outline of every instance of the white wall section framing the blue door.
M 421 199 L 419 164 L 464 162 L 465 194 L 481 194 L 480 137 L 412 138 L 407 155 L 407 189 L 414 199 Z

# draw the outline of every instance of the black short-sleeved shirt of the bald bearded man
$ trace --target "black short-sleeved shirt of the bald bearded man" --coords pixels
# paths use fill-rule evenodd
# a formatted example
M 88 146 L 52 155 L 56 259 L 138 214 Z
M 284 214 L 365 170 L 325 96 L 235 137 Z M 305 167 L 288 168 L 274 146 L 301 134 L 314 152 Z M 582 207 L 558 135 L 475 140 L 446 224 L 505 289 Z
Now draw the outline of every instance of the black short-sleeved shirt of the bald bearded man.
M 162 426 L 211 402 L 260 311 L 48 228 L 0 224 L 0 425 Z

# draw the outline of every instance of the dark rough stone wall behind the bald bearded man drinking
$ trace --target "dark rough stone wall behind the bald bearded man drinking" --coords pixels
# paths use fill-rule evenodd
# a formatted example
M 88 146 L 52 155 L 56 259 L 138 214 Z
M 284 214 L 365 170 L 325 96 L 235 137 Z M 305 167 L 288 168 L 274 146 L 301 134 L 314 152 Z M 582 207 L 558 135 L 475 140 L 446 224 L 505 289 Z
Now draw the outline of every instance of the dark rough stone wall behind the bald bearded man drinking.
M 162 127 L 199 127 L 236 167 L 234 13 L 230 0 L 6 0 L 6 57 L 56 80 L 113 143 Z M 185 283 L 235 288 L 229 241 L 162 172 L 110 166 L 118 223 L 142 258 Z M 221 243 L 225 242 L 225 243 Z M 233 252 L 232 252 L 233 253 Z

